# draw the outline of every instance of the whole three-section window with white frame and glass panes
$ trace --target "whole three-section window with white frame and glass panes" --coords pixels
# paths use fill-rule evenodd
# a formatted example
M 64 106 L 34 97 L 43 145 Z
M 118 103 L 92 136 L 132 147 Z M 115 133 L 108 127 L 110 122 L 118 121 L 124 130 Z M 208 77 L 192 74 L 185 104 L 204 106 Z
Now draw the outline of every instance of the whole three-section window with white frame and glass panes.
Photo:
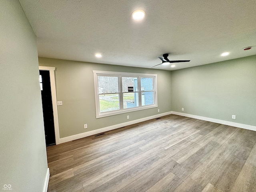
M 96 118 L 157 107 L 156 74 L 93 73 Z

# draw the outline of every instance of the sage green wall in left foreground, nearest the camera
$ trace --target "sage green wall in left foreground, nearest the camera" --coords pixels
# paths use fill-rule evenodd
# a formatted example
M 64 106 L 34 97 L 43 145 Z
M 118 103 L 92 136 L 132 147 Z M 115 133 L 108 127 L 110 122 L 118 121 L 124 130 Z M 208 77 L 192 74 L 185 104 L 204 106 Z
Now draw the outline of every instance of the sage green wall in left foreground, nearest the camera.
M 18 0 L 0 1 L 0 26 L 0 189 L 42 192 L 48 166 L 36 36 Z

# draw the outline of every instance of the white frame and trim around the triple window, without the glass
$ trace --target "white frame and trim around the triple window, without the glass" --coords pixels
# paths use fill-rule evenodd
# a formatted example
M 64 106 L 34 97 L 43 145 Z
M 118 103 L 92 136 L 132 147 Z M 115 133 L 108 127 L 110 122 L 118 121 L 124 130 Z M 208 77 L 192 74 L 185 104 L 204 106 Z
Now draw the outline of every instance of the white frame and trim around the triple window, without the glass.
M 144 74 L 144 73 L 128 73 L 128 72 L 111 72 L 111 71 L 96 71 L 93 70 L 94 75 L 94 96 L 95 96 L 95 107 L 96 107 L 96 118 L 106 117 L 106 116 L 112 116 L 116 114 L 122 114 L 127 112 L 133 112 L 138 110 L 144 110 L 144 109 L 150 109 L 150 108 L 156 108 L 158 107 L 157 104 L 157 74 Z M 99 101 L 99 91 L 98 91 L 98 75 L 100 76 L 118 76 L 119 78 L 119 110 L 109 111 L 109 112 L 103 112 L 100 113 L 100 101 Z M 123 92 L 122 92 L 122 77 L 137 77 L 138 78 L 138 99 L 139 99 L 139 106 L 134 108 L 126 108 L 123 107 Z M 153 84 L 153 92 L 154 92 L 154 104 L 152 105 L 146 105 L 142 106 L 141 104 L 141 91 L 140 90 L 140 78 L 144 77 L 153 77 L 154 78 L 154 84 Z

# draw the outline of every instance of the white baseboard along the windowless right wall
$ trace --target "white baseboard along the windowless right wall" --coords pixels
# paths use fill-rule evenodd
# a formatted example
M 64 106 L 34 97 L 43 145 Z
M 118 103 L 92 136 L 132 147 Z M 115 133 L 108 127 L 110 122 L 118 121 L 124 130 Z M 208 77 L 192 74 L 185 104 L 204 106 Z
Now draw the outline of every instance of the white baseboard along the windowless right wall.
M 220 123 L 220 124 L 224 124 L 224 125 L 228 125 L 228 126 L 239 127 L 239 128 L 243 128 L 243 129 L 256 131 L 256 126 L 252 126 L 252 125 L 246 125 L 246 124 L 224 121 L 224 120 L 208 118 L 208 117 L 203 117 L 203 116 L 198 116 L 198 115 L 180 113 L 180 112 L 176 112 L 176 111 L 172 111 L 171 113 L 174 115 L 180 115 L 180 116 L 184 116 L 184 117 L 190 117 L 190 118 L 194 118 L 194 119 L 200 119 L 200 120 L 204 120 L 204 121 L 210 121 L 210 122 L 214 122 L 214 123 Z

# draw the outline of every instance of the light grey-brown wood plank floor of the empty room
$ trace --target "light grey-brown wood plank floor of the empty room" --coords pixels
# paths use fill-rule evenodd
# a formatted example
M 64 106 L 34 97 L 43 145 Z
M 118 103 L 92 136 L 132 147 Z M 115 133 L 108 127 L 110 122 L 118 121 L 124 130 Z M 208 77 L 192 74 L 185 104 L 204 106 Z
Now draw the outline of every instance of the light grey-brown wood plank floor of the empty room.
M 256 192 L 256 132 L 177 115 L 47 147 L 48 192 Z

